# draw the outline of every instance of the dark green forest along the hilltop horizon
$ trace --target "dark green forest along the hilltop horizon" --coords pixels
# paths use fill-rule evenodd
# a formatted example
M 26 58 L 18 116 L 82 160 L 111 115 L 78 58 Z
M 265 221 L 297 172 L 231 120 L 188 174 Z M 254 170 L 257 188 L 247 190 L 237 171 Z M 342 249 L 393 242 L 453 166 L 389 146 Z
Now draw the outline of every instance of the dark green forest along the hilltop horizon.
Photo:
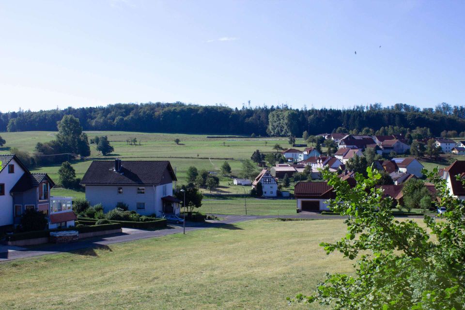
M 377 131 L 387 126 L 412 130 L 427 127 L 435 136 L 444 130 L 465 131 L 465 107 L 447 103 L 434 109 L 406 104 L 372 104 L 352 109 L 292 109 L 285 105 L 232 109 L 182 102 L 0 113 L 0 131 L 54 131 L 64 115 L 77 117 L 84 130 L 296 137 L 302 136 L 303 131 L 315 135 L 333 132 L 338 127 L 350 131 Z

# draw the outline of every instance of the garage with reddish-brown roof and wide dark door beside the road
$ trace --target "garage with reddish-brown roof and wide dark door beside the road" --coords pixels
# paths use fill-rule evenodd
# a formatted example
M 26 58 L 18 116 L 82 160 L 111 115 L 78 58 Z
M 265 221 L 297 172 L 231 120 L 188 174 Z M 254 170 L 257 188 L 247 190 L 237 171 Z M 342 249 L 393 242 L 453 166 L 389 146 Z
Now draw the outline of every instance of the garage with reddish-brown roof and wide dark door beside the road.
M 327 182 L 299 182 L 294 186 L 294 196 L 300 211 L 329 210 L 326 201 L 336 198 L 333 187 Z

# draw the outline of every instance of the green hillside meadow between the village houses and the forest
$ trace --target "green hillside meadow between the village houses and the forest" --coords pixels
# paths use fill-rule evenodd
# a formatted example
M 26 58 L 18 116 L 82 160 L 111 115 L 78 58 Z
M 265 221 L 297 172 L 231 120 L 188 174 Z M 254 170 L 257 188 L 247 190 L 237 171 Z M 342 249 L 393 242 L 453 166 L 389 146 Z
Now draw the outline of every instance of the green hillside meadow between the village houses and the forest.
M 141 132 L 121 132 L 121 131 L 90 131 L 86 132 L 89 138 L 94 136 L 108 136 L 111 145 L 115 151 L 108 155 L 102 156 L 95 150 L 95 145 L 91 145 L 91 156 L 88 160 L 75 160 L 72 165 L 76 170 L 76 176 L 82 177 L 89 168 L 92 160 L 112 160 L 116 157 L 123 160 L 170 160 L 171 165 L 176 167 L 178 184 L 186 183 L 186 171 L 190 166 L 195 166 L 199 170 L 219 172 L 221 164 L 225 161 L 231 165 L 232 174 L 239 175 L 242 167 L 242 160 L 250 158 L 252 153 L 259 149 L 260 152 L 274 152 L 273 146 L 279 143 L 282 147 L 289 147 L 286 138 L 256 138 L 256 139 L 209 139 L 206 135 L 187 135 L 187 134 L 159 134 L 159 133 L 141 133 Z M 0 149 L 0 153 L 8 153 L 8 148 L 16 147 L 22 151 L 32 153 L 37 142 L 46 142 L 54 139 L 56 132 L 50 131 L 28 131 L 28 132 L 5 132 L 1 133 L 3 139 L 7 141 L 6 145 Z M 140 145 L 128 145 L 126 139 L 136 138 Z M 180 144 L 174 143 L 174 139 L 179 138 Z M 223 144 L 224 143 L 224 144 Z M 139 142 L 138 142 L 139 144 Z M 303 148 L 302 148 L 303 149 Z M 221 159 L 218 159 L 221 158 Z M 54 180 L 58 180 L 58 170 L 61 165 L 52 165 L 39 167 L 33 172 L 46 172 Z M 260 168 L 257 167 L 257 171 Z M 233 180 L 225 178 L 221 181 L 220 187 L 216 193 L 241 193 L 244 192 L 243 186 L 229 186 Z M 250 186 L 244 187 L 246 191 Z M 202 189 L 203 192 L 209 193 L 209 190 Z M 60 195 L 65 192 L 66 195 L 79 198 L 83 193 L 75 191 L 60 191 Z M 58 195 L 53 193 L 53 195 Z

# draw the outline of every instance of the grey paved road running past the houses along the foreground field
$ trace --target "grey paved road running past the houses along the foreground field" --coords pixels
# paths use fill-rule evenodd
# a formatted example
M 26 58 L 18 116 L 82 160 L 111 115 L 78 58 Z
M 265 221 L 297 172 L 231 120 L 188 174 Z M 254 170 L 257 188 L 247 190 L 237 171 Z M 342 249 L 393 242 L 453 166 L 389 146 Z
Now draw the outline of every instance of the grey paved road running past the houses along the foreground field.
M 205 228 L 233 228 L 234 223 L 258 219 L 258 218 L 276 218 L 277 216 L 241 216 L 241 215 L 218 215 L 223 219 L 220 221 L 206 221 L 205 223 L 186 222 L 186 232 L 191 232 Z M 342 219 L 344 217 L 337 215 L 321 215 L 312 212 L 303 212 L 295 215 L 279 216 L 283 218 L 308 218 L 308 219 Z M 128 242 L 146 238 L 166 236 L 173 233 L 182 233 L 182 225 L 172 225 L 167 229 L 157 231 L 145 231 L 135 229 L 123 229 L 123 233 L 107 235 L 103 237 L 93 237 L 81 239 L 78 242 L 68 244 L 45 244 L 39 246 L 18 248 L 0 245 L 0 262 L 11 261 L 19 258 L 54 254 L 61 252 L 75 251 L 84 248 L 105 248 L 110 244 Z

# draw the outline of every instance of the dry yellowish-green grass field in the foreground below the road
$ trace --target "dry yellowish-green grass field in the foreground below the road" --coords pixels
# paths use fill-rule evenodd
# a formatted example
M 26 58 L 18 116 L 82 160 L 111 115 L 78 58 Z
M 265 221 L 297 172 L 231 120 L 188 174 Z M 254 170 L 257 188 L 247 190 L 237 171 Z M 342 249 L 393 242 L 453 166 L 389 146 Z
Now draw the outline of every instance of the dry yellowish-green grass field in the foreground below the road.
M 0 309 L 284 309 L 353 262 L 341 220 L 254 220 L 0 264 Z M 292 309 L 327 309 L 296 305 Z

